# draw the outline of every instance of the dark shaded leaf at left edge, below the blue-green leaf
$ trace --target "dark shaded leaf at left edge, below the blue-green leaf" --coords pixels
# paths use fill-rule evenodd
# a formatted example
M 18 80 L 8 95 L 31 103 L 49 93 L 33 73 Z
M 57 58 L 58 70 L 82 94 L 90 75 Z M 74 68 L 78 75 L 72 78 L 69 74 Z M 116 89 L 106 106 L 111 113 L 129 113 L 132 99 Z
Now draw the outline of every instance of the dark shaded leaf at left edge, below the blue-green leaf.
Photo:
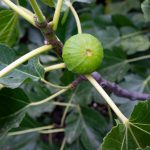
M 12 129 L 19 126 L 25 108 L 30 103 L 21 89 L 7 89 L 0 91 L 0 138 Z

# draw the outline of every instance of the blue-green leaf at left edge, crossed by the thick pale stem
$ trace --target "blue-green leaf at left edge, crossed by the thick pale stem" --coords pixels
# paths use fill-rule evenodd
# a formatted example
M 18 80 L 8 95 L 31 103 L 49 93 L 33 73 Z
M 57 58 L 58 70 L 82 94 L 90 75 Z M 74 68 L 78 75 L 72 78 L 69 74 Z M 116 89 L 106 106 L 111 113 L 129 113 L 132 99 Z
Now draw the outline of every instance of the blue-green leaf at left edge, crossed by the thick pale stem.
M 0 70 L 17 59 L 15 51 L 0 45 Z M 27 79 L 38 81 L 44 77 L 44 68 L 38 58 L 31 59 L 26 65 L 16 68 L 8 75 L 0 78 L 0 83 L 9 88 L 17 88 Z

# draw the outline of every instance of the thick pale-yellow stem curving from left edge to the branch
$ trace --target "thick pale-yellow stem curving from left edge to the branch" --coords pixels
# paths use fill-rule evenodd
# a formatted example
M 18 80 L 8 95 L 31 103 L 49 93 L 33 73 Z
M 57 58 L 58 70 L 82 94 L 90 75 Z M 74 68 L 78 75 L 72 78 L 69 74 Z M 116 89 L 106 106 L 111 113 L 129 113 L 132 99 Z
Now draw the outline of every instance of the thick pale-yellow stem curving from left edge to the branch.
M 7 75 L 9 72 L 11 72 L 13 69 L 17 68 L 18 66 L 20 66 L 21 64 L 23 64 L 24 62 L 26 62 L 27 60 L 33 58 L 34 56 L 39 55 L 40 53 L 43 53 L 45 51 L 48 51 L 52 48 L 51 45 L 44 45 L 41 46 L 27 54 L 25 54 L 24 56 L 20 57 L 19 59 L 17 59 L 16 61 L 12 62 L 10 65 L 8 65 L 7 67 L 5 67 L 4 69 L 2 69 L 0 71 L 0 78 Z

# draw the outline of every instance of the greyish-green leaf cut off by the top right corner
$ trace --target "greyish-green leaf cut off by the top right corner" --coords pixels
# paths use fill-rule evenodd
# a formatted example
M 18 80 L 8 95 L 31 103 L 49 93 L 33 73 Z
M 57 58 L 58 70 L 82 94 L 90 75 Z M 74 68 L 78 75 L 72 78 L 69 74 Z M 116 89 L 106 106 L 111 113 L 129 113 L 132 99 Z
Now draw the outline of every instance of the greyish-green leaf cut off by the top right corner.
M 145 0 L 142 4 L 141 4 L 141 8 L 142 11 L 144 13 L 144 17 L 146 19 L 146 21 L 150 21 L 150 0 Z

